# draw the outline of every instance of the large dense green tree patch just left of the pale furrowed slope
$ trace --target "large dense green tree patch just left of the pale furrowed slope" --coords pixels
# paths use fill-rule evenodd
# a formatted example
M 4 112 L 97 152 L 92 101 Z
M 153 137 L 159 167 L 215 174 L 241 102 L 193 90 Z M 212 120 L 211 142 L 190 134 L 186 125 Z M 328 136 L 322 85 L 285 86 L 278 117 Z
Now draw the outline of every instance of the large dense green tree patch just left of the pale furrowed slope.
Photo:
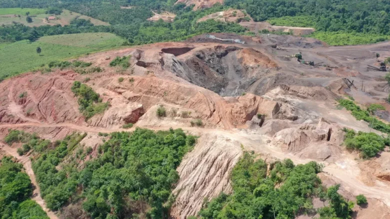
M 176 168 L 193 147 L 195 137 L 181 129 L 112 133 L 98 148 L 98 157 L 79 169 L 74 160 L 77 153 L 69 152 L 83 137 L 73 134 L 52 143 L 33 160 L 32 168 L 49 209 L 56 211 L 81 202 L 83 214 L 91 218 L 167 218 L 174 201 L 172 185 L 178 180 Z M 65 164 L 65 158 L 72 162 Z M 62 165 L 60 170 L 55 168 L 58 165 Z

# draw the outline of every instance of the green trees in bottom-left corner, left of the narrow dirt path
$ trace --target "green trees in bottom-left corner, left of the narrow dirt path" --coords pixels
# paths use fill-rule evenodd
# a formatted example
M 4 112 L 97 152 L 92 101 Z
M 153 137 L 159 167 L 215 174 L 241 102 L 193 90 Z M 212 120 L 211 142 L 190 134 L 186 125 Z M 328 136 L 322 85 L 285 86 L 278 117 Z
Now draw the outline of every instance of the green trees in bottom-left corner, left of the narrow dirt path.
M 31 180 L 11 157 L 0 160 L 0 215 L 2 219 L 48 219 L 33 200 Z

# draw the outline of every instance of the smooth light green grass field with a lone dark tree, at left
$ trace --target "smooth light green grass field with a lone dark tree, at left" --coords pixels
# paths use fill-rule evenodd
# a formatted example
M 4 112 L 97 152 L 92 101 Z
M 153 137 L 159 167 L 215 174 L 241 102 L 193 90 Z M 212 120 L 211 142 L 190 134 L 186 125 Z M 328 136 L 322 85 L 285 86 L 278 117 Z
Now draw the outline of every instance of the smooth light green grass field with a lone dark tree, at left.
M 78 33 L 44 36 L 32 43 L 23 40 L 0 44 L 0 78 L 26 72 L 50 61 L 118 47 L 122 42 L 122 38 L 112 33 Z M 38 46 L 41 55 L 36 53 Z

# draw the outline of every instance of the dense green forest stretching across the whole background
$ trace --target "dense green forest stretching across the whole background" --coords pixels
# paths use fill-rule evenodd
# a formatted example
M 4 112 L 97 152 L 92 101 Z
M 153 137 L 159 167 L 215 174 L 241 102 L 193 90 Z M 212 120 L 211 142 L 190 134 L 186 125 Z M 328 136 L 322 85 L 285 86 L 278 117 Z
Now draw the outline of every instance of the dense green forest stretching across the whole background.
M 128 39 L 129 44 L 182 40 L 205 32 L 244 32 L 236 23 L 206 21 L 196 23 L 205 14 L 227 7 L 245 9 L 255 21 L 269 20 L 276 25 L 310 26 L 313 37 L 329 44 L 361 44 L 388 39 L 390 30 L 389 0 L 225 0 L 224 5 L 192 11 L 176 0 L 0 0 L 0 7 L 65 8 L 111 24 L 110 27 L 71 27 L 36 29 L 39 35 L 85 31 L 112 32 Z M 135 6 L 121 8 L 120 6 Z M 147 21 L 151 10 L 167 10 L 177 14 L 172 23 Z M 7 27 L 5 27 L 7 28 Z M 23 32 L 32 31 L 27 28 Z M 62 30 L 63 29 L 63 30 Z M 8 30 L 9 31 L 9 30 Z M 354 34 L 351 34 L 354 33 Z M 355 35 L 357 34 L 357 35 Z M 0 32 L 4 40 L 6 34 Z M 12 34 L 11 34 L 12 35 Z M 8 37 L 9 38 L 9 37 Z M 11 37 L 12 38 L 12 37 Z M 22 36 L 13 40 L 19 40 Z M 25 38 L 25 37 L 24 37 Z M 338 42 L 341 41 L 341 42 Z

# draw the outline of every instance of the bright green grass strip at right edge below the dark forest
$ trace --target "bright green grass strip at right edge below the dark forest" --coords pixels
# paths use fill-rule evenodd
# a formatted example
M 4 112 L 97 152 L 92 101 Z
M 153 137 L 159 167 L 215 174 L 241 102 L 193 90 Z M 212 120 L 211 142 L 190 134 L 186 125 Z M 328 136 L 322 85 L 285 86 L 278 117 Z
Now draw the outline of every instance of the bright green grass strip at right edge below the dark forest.
M 313 37 L 326 42 L 329 45 L 359 45 L 376 43 L 389 40 L 390 36 L 373 33 L 355 33 L 355 32 L 322 32 L 315 31 L 308 37 Z

